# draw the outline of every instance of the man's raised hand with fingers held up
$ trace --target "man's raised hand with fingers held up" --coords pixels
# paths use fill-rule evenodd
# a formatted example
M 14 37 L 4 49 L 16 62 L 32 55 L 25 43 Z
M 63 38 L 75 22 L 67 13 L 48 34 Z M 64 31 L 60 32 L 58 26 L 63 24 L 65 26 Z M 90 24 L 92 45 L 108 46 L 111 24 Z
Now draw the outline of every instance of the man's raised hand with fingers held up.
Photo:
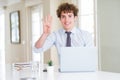
M 50 34 L 52 25 L 52 16 L 48 15 L 45 17 L 43 22 L 43 34 Z

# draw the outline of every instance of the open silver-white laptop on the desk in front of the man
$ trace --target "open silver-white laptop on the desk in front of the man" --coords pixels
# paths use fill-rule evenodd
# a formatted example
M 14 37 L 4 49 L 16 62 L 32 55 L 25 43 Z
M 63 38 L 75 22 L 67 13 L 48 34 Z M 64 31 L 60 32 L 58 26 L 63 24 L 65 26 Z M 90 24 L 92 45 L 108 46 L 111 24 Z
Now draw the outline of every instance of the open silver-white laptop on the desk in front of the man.
M 93 72 L 98 69 L 96 47 L 62 47 L 60 72 Z

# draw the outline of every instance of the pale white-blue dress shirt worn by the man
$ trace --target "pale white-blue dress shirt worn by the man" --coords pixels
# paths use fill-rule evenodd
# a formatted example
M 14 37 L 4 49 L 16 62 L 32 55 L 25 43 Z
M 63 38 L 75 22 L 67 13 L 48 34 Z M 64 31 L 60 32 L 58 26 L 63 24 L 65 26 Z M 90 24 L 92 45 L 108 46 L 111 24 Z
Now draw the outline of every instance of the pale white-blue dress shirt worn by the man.
M 71 32 L 71 47 L 94 46 L 92 35 L 89 32 L 83 31 L 78 27 L 74 27 Z M 66 38 L 67 34 L 65 33 L 65 30 L 59 29 L 47 37 L 42 48 L 35 48 L 34 51 L 40 53 L 55 45 L 58 53 L 60 53 L 60 48 L 66 46 Z

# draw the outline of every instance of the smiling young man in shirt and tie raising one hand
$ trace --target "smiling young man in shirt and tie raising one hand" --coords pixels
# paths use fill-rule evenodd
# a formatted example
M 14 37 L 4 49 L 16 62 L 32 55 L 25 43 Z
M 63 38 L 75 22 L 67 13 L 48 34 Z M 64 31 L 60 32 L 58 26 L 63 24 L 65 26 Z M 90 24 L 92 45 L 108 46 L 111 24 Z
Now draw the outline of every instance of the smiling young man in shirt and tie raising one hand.
M 35 44 L 37 52 L 45 51 L 55 45 L 58 53 L 61 47 L 88 47 L 94 46 L 91 35 L 75 27 L 78 16 L 78 8 L 69 3 L 61 4 L 57 9 L 57 16 L 62 24 L 62 28 L 51 32 L 52 17 L 47 16 L 44 20 L 43 34 Z

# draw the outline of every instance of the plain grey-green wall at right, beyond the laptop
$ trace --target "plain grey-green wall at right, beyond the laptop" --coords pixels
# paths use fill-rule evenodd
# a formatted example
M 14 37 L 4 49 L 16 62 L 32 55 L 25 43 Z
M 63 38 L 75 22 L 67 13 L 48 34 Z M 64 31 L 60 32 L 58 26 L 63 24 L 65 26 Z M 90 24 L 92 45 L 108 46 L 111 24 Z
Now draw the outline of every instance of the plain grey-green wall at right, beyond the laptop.
M 101 69 L 120 72 L 120 0 L 98 0 Z

